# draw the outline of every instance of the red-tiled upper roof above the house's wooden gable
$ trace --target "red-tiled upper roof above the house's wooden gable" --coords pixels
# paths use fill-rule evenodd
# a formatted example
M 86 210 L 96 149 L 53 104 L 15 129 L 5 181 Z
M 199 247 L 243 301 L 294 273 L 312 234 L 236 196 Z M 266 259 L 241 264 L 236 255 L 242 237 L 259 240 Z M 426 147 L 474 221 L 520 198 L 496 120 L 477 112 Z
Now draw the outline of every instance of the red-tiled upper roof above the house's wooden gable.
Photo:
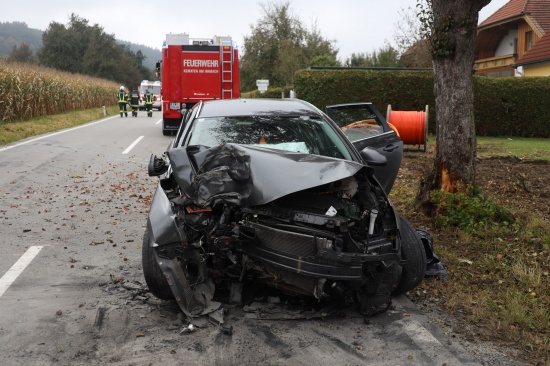
M 510 0 L 481 22 L 478 28 L 489 27 L 524 16 L 528 16 L 542 34 L 546 33 L 547 30 L 550 30 L 550 1 Z

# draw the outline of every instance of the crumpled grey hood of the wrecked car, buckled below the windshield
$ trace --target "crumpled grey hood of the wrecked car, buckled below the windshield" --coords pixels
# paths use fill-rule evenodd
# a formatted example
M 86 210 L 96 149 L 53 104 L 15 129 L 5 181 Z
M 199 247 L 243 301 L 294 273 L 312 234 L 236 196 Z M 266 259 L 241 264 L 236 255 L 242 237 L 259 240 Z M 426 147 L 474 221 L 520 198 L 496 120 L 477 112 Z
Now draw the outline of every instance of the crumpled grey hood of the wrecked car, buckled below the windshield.
M 185 148 L 170 149 L 166 154 L 178 185 L 201 207 L 220 200 L 262 205 L 351 177 L 360 170 L 372 175 L 371 168 L 354 161 L 232 143 L 193 155 Z

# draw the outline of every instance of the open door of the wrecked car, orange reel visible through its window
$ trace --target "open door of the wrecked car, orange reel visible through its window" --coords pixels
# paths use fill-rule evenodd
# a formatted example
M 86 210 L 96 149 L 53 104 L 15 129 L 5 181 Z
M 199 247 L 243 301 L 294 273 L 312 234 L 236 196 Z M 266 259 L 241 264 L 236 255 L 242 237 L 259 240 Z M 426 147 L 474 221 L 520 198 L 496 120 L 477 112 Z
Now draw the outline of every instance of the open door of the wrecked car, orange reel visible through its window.
M 376 179 L 389 194 L 403 157 L 403 141 L 397 130 L 390 127 L 372 103 L 330 105 L 326 107 L 326 113 L 360 153 L 370 148 L 386 157 L 386 164 L 371 167 Z

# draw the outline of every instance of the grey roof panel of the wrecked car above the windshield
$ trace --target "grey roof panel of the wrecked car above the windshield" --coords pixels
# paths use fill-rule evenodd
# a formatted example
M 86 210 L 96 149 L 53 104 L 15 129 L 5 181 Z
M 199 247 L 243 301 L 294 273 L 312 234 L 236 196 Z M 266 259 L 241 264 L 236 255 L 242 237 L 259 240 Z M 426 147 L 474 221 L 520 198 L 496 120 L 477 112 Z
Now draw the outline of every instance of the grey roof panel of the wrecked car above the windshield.
M 219 116 L 321 116 L 314 105 L 300 99 L 223 99 L 204 102 L 198 118 Z

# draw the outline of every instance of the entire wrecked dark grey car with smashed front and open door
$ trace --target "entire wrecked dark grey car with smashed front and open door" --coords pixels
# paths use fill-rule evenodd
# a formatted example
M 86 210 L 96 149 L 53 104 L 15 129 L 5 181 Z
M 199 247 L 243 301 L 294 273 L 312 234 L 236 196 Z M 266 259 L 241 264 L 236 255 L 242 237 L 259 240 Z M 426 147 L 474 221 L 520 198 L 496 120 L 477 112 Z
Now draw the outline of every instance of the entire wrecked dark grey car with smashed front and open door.
M 372 104 L 217 100 L 183 122 L 149 162 L 142 255 L 150 291 L 187 316 L 259 289 L 370 316 L 436 259 L 388 198 L 403 143 Z

